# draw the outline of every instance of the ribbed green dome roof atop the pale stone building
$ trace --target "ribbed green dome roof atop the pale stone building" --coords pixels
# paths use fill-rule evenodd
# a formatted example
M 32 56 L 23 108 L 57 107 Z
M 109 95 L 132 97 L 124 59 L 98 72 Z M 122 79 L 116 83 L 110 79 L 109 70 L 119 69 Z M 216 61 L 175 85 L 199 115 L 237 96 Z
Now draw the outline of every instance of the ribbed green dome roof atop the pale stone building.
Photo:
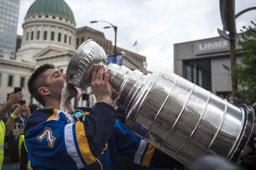
M 73 12 L 64 0 L 36 0 L 27 15 L 36 13 L 58 14 L 75 21 Z

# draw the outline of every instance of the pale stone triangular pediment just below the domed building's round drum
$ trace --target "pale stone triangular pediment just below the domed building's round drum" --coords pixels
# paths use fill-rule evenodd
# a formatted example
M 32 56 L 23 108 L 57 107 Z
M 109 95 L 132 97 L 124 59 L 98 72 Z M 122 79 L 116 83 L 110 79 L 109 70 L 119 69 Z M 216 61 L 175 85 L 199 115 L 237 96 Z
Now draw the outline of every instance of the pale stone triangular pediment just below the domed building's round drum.
M 64 54 L 73 54 L 75 50 L 67 50 L 64 48 L 58 48 L 58 47 L 53 47 L 53 46 L 48 46 L 44 50 L 42 50 L 40 53 L 36 54 L 33 56 L 35 60 L 40 60 L 44 58 L 49 58 L 49 57 L 57 57 L 61 56 Z

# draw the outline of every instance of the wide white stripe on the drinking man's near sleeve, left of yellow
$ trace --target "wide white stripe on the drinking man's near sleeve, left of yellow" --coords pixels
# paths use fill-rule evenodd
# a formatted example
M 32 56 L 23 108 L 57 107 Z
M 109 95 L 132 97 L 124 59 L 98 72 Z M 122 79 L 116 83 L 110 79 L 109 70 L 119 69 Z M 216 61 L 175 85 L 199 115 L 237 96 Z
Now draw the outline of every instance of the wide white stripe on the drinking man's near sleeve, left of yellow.
M 74 123 L 69 123 L 65 126 L 64 129 L 64 137 L 65 137 L 65 144 L 67 148 L 67 153 L 69 153 L 69 156 L 76 162 L 76 167 L 78 169 L 84 168 L 84 164 L 82 163 L 78 153 L 76 152 L 76 146 L 74 143 L 74 138 L 73 138 L 73 130 L 72 130 L 72 125 Z

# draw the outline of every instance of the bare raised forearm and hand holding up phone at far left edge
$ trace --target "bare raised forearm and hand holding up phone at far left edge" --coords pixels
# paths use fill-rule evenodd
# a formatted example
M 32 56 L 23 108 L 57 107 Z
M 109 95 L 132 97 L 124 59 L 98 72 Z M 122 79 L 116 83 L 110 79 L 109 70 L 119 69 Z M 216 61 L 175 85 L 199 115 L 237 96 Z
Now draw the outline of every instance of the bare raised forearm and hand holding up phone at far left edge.
M 12 107 L 12 105 L 22 100 L 22 93 L 23 92 L 18 92 L 14 94 L 13 92 L 11 92 L 9 100 L 3 105 L 3 107 L 0 108 L 0 120 L 3 119 L 8 110 L 10 110 L 10 108 Z

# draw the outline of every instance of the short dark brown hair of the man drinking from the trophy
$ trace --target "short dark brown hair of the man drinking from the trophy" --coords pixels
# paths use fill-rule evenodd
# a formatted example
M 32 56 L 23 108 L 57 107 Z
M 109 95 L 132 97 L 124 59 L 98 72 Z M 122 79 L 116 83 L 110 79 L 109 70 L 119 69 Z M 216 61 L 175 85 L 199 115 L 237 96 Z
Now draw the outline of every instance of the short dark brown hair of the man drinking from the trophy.
M 32 75 L 27 80 L 27 89 L 31 96 L 33 96 L 38 102 L 40 102 L 44 106 L 44 101 L 42 96 L 38 93 L 38 89 L 42 86 L 48 86 L 46 81 L 46 75 L 44 75 L 44 71 L 47 69 L 55 69 L 55 66 L 52 64 L 44 64 L 39 66 Z

